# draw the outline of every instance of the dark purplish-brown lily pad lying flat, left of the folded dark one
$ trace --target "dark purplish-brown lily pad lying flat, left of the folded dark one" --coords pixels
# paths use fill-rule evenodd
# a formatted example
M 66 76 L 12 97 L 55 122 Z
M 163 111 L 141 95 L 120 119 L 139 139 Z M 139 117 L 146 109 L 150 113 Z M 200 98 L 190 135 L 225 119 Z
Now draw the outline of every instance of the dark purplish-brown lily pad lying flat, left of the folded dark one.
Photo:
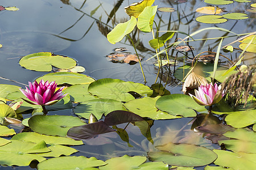
M 115 131 L 104 121 L 94 122 L 92 124 L 86 124 L 82 126 L 73 127 L 68 130 L 68 137 L 73 139 L 90 139 L 95 138 L 100 134 L 109 133 Z

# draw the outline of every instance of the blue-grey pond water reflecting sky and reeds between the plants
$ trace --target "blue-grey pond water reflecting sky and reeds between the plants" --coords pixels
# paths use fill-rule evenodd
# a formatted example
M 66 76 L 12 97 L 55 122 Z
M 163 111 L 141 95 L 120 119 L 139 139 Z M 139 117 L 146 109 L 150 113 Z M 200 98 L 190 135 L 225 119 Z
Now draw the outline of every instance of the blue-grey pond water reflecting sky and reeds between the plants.
M 126 48 L 127 52 L 135 53 L 133 46 L 128 40 L 123 39 L 116 44 L 110 44 L 106 38 L 106 33 L 115 27 L 115 24 L 129 20 L 130 17 L 124 12 L 123 8 L 129 6 L 131 3 L 137 1 L 94 1 L 94 0 L 63 0 L 63 1 L 49 1 L 49 0 L 2 0 L 0 6 L 16 6 L 18 11 L 0 11 L 0 84 L 12 84 L 15 86 L 24 86 L 20 83 L 27 84 L 27 82 L 34 81 L 39 76 L 43 76 L 48 72 L 31 71 L 24 69 L 19 65 L 19 59 L 32 53 L 38 52 L 52 52 L 68 56 L 77 61 L 79 66 L 85 68 L 82 74 L 89 75 L 94 79 L 112 78 L 121 79 L 125 81 L 132 81 L 136 83 L 143 83 L 143 76 L 139 63 L 129 65 L 128 63 L 113 63 L 108 61 L 106 56 L 113 53 L 114 48 Z M 116 9 L 112 18 L 108 21 L 108 15 L 113 10 L 117 3 L 121 3 Z M 101 4 L 100 7 L 98 7 Z M 249 19 L 243 20 L 228 20 L 228 22 L 221 24 L 204 24 L 195 20 L 197 16 L 203 15 L 195 12 L 196 8 L 207 6 L 207 3 L 200 0 L 189 0 L 185 3 L 177 3 L 171 0 L 155 1 L 154 5 L 158 7 L 173 7 L 175 12 L 157 12 L 155 15 L 156 23 L 160 23 L 160 31 L 177 30 L 191 34 L 207 27 L 221 27 L 228 29 L 234 33 L 242 34 L 255 31 L 255 13 L 246 12 Z M 250 3 L 234 2 L 230 5 L 219 5 L 218 7 L 225 7 L 228 12 L 245 12 L 245 9 L 250 6 Z M 97 8 L 98 7 L 98 8 Z M 92 10 L 97 11 L 92 14 Z M 100 21 L 102 23 L 100 23 Z M 170 22 L 171 21 L 171 22 Z M 108 23 L 107 23 L 108 22 Z M 108 25 L 108 26 L 106 26 Z M 155 28 L 155 27 L 154 27 Z M 207 39 L 211 37 L 230 36 L 232 33 L 226 33 L 218 30 L 203 31 L 195 36 L 193 39 Z M 175 36 L 170 42 L 175 39 L 183 39 L 187 35 L 175 33 Z M 134 35 L 135 40 L 141 42 L 137 46 L 138 53 L 144 56 L 142 60 L 142 67 L 146 76 L 147 86 L 155 83 L 156 75 L 158 74 L 158 67 L 154 65 L 157 61 L 155 50 L 148 45 L 148 41 L 152 39 L 151 33 L 137 33 Z M 224 39 L 222 45 L 227 45 L 237 39 L 237 36 Z M 169 43 L 170 43 L 169 42 Z M 189 42 L 193 46 L 195 54 L 208 51 L 209 48 L 216 52 L 219 39 L 207 41 Z M 135 42 L 136 44 L 136 42 Z M 181 45 L 181 44 L 180 44 Z M 183 45 L 183 44 L 182 44 Z M 239 42 L 233 44 L 238 48 Z M 191 53 L 186 52 L 188 56 Z M 171 49 L 169 56 L 174 59 L 176 51 Z M 234 52 L 230 59 L 235 60 L 240 53 Z M 149 59 L 151 58 L 151 59 Z M 179 66 L 183 65 L 183 55 L 178 54 L 177 60 Z M 148 60 L 147 60 L 148 59 Z M 225 58 L 222 59 L 222 65 L 230 66 Z M 254 54 L 246 54 L 243 64 L 255 64 Z M 174 67 L 171 67 L 171 72 Z M 161 74 L 161 73 L 160 73 Z M 163 75 L 159 76 L 157 83 L 166 85 L 166 89 L 171 94 L 183 94 L 181 92 L 182 83 L 180 80 L 169 74 L 167 67 L 163 67 Z M 9 79 L 9 80 L 7 80 Z M 13 80 L 13 81 L 12 81 Z M 64 111 L 49 112 L 49 115 L 73 114 L 71 109 Z M 26 116 L 24 116 L 26 117 Z M 220 148 L 218 145 L 212 144 L 209 140 L 204 139 L 202 134 L 194 133 L 191 125 L 187 125 L 193 118 L 180 118 L 175 120 L 155 120 L 151 128 L 151 135 L 153 140 L 162 140 L 167 142 L 186 141 L 187 143 L 195 143 L 197 145 L 205 146 L 207 148 Z M 125 128 L 126 124 L 118 125 L 118 128 Z M 94 156 L 97 159 L 106 160 L 113 156 L 122 155 L 147 155 L 150 150 L 150 142 L 141 135 L 137 126 L 127 126 L 129 134 L 130 145 L 123 142 L 117 134 L 111 133 L 101 137 L 102 141 L 109 138 L 110 143 L 103 145 L 96 145 L 97 142 L 92 141 L 94 145 L 88 144 L 76 146 L 80 152 L 73 154 L 75 156 Z M 96 143 L 96 144 L 95 144 Z M 145 148 L 147 147 L 147 148 Z M 3 167 L 0 167 L 1 169 Z M 28 169 L 29 167 L 5 167 L 3 169 Z M 204 167 L 197 167 L 196 169 L 203 169 Z

